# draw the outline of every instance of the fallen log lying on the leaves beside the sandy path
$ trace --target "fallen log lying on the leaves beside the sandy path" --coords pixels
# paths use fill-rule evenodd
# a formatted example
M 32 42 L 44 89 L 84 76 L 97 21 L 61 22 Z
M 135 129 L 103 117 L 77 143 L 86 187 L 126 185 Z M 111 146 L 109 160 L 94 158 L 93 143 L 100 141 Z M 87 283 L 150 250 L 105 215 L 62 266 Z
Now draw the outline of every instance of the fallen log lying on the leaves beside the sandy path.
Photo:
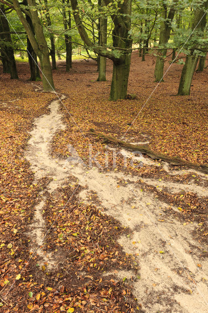
M 90 134 L 92 134 L 94 136 L 98 136 L 100 138 L 103 138 L 104 141 L 102 143 L 110 142 L 110 143 L 125 147 L 126 149 L 130 149 L 133 151 L 140 151 L 140 152 L 144 153 L 145 155 L 150 156 L 153 160 L 162 160 L 162 161 L 168 162 L 172 165 L 185 165 L 185 166 L 188 166 L 194 170 L 208 174 L 208 165 L 207 164 L 195 164 L 192 162 L 187 162 L 187 161 L 185 161 L 179 157 L 166 156 L 166 155 L 158 153 L 156 151 L 152 151 L 151 149 L 149 149 L 148 145 L 146 145 L 146 144 L 134 145 L 134 144 L 125 142 L 123 140 L 119 140 L 115 137 L 112 137 L 112 136 L 109 136 L 106 134 L 102 134 L 102 133 L 98 133 L 92 128 L 89 131 L 90 131 Z

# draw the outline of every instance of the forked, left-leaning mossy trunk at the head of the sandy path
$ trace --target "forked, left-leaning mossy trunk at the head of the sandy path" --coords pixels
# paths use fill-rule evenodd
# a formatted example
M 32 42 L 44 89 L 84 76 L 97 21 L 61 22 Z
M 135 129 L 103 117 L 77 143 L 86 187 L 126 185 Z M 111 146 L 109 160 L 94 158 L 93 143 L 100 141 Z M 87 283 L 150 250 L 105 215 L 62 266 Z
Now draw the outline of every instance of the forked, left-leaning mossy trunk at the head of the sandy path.
M 19 1 L 12 0 L 12 3 L 22 25 L 25 28 L 25 31 L 30 40 L 30 43 L 35 53 L 39 57 L 41 67 L 42 67 L 43 89 L 44 91 L 52 91 L 54 90 L 54 83 L 53 83 L 53 76 L 52 76 L 52 70 L 51 70 L 51 65 L 50 65 L 49 50 L 48 50 L 47 42 L 44 37 L 42 24 L 38 16 L 37 4 L 35 0 L 28 0 L 28 13 L 26 12 L 26 14 L 29 14 L 32 20 L 34 30 L 35 30 L 35 35 L 34 35 L 29 23 L 26 21 L 26 18 L 24 17 L 22 13 Z

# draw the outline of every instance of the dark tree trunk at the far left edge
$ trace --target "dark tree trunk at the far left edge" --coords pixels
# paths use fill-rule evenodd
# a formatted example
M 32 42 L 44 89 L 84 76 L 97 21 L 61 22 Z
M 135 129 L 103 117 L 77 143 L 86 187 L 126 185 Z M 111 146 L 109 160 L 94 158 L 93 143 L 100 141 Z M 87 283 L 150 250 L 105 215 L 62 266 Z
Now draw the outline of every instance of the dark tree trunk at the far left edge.
M 0 9 L 4 12 L 4 5 L 0 5 Z M 14 56 L 14 50 L 12 45 L 12 38 L 9 29 L 9 23 L 3 13 L 0 12 L 0 32 L 6 32 L 6 34 L 0 35 L 0 48 L 2 54 L 3 70 L 6 73 L 10 73 L 11 79 L 18 79 L 18 72 L 16 67 L 16 61 Z

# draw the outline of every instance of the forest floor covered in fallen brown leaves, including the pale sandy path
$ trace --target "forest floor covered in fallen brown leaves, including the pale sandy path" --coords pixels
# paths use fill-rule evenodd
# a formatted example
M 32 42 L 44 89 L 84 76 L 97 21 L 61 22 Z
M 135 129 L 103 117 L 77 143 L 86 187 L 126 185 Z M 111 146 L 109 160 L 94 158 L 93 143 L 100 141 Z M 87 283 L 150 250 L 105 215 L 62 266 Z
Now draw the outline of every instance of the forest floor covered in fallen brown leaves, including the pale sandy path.
M 181 97 L 172 65 L 147 103 L 154 58 L 136 52 L 135 100 L 108 101 L 110 61 L 106 82 L 93 61 L 59 61 L 58 94 L 18 70 L 0 68 L 0 312 L 207 312 L 207 175 L 89 129 L 205 164 L 208 69 Z

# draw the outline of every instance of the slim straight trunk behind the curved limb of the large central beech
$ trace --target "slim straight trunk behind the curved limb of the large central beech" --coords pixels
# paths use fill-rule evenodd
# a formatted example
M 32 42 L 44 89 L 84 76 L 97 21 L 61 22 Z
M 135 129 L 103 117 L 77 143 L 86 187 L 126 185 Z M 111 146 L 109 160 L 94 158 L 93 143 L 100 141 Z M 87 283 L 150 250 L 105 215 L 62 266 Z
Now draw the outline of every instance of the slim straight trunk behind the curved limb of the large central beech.
M 104 6 L 104 0 L 100 1 L 100 5 Z M 105 47 L 107 44 L 107 19 L 106 18 L 100 18 L 99 19 L 99 45 Z M 98 69 L 99 69 L 99 75 L 98 75 L 98 82 L 105 82 L 105 71 L 106 71 L 106 58 L 103 56 L 98 57 Z

